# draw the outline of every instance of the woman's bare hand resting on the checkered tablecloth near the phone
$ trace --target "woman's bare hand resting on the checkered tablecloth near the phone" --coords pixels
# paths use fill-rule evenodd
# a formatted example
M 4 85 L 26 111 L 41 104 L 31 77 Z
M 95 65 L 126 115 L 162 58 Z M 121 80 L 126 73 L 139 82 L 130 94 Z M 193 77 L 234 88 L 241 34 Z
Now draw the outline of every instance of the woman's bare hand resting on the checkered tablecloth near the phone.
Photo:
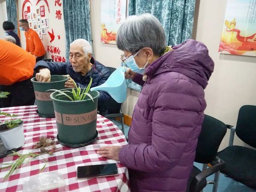
M 119 151 L 121 150 L 122 146 L 110 146 L 110 147 L 102 147 L 100 148 L 97 153 L 102 157 L 113 159 L 119 161 Z

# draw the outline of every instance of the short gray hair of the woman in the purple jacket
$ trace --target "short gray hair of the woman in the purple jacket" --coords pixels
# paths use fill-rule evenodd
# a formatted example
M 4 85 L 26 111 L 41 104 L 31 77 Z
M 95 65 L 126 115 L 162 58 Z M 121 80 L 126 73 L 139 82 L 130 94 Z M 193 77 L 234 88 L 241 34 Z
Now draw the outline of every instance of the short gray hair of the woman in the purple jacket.
M 135 53 L 149 47 L 157 56 L 166 48 L 166 37 L 160 21 L 151 14 L 127 17 L 116 34 L 116 45 L 122 51 Z

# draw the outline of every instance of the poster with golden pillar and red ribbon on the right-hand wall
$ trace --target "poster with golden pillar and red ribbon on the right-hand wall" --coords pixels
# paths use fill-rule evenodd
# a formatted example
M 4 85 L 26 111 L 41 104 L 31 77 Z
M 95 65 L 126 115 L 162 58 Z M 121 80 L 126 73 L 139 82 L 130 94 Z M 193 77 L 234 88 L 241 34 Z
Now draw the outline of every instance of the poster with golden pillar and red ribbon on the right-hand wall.
M 256 0 L 228 0 L 219 52 L 256 56 Z

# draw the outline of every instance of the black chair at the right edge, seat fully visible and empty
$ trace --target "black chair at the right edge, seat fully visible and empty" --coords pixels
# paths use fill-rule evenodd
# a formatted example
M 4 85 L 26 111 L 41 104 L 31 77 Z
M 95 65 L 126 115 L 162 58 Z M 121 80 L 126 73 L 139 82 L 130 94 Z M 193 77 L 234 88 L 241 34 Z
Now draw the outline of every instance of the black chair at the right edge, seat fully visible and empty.
M 229 125 L 228 128 L 230 129 L 229 146 L 217 154 L 226 163 L 221 172 L 256 190 L 256 150 L 233 145 L 236 132 L 242 141 L 256 148 L 256 106 L 242 106 L 236 127 Z

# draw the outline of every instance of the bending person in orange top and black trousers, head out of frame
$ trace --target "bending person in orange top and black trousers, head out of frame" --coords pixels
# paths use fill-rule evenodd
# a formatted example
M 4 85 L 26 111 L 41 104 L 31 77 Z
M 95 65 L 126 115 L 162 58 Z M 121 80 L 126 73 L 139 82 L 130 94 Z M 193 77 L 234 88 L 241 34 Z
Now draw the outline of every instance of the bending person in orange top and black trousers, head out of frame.
M 33 76 L 35 57 L 23 48 L 0 40 L 0 91 L 8 98 L 0 99 L 0 107 L 33 105 L 35 93 L 30 79 Z

